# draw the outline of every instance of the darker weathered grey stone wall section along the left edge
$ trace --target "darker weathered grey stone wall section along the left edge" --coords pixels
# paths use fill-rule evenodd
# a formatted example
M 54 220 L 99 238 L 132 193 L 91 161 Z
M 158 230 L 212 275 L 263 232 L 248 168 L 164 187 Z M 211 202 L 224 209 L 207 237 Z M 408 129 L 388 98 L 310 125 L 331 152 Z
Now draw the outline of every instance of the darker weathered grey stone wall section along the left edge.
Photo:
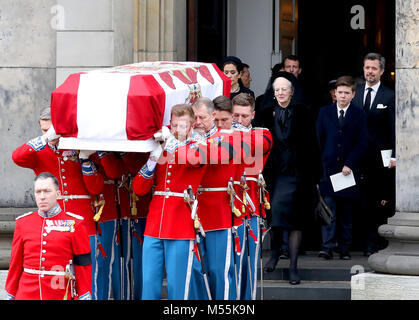
M 39 134 L 37 117 L 55 88 L 54 0 L 2 0 L 0 7 L 0 206 L 33 206 L 33 174 L 12 151 Z

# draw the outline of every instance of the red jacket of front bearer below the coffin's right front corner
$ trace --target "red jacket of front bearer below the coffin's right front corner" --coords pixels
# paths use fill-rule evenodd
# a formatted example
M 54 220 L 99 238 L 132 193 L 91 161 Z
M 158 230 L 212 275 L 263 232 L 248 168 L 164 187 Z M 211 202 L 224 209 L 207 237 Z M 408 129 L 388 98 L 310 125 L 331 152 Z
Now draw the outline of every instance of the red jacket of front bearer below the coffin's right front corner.
M 167 143 L 165 149 L 154 171 L 146 164 L 135 176 L 134 192 L 144 195 L 154 184 L 154 192 L 182 194 L 191 186 L 196 194 L 206 170 L 205 150 L 194 141 L 181 146 Z M 183 197 L 154 194 L 144 235 L 160 239 L 195 239 L 189 204 Z

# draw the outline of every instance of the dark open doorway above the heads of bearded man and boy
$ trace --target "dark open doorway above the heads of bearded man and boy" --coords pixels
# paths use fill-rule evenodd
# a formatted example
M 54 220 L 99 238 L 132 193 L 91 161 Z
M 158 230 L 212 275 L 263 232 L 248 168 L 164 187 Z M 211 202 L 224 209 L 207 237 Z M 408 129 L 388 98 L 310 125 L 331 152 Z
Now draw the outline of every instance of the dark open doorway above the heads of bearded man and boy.
M 358 13 L 351 13 L 354 6 L 364 9 L 364 29 L 351 26 Z M 369 52 L 378 52 L 386 58 L 382 81 L 394 89 L 394 0 L 300 0 L 298 41 L 303 67 L 301 80 L 308 101 L 316 108 L 324 103 L 330 80 L 341 75 L 363 80 L 363 57 Z

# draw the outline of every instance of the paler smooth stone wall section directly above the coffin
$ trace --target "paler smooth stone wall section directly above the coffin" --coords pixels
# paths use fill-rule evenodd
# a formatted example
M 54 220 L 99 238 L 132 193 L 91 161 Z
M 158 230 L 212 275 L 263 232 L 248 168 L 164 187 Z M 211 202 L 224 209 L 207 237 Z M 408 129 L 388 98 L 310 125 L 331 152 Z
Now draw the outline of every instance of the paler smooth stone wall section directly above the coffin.
M 71 73 L 133 62 L 134 1 L 58 0 L 57 86 Z

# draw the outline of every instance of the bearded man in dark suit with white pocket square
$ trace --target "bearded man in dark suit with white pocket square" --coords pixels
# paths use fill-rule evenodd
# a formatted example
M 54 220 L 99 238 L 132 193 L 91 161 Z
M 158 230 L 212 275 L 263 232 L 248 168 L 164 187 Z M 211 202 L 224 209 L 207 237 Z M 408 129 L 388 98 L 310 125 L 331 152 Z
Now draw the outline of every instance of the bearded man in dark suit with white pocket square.
M 385 59 L 378 53 L 364 58 L 365 84 L 358 85 L 354 104 L 367 115 L 368 152 L 361 164 L 361 199 L 365 223 L 366 256 L 382 249 L 385 240 L 378 227 L 394 213 L 395 202 L 395 95 L 380 81 Z M 382 150 L 391 150 L 388 166 L 383 165 Z

